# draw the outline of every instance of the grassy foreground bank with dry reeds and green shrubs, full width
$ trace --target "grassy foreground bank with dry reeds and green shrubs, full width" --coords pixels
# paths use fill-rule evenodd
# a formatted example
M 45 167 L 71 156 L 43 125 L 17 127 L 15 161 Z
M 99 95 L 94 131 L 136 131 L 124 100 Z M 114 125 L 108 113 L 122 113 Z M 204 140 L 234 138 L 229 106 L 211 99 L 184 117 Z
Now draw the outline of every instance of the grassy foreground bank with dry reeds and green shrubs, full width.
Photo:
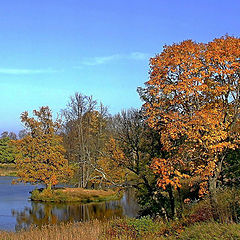
M 154 222 L 150 218 L 90 221 L 31 228 L 18 233 L 0 232 L 1 240 L 164 240 L 240 239 L 239 224 L 196 223 L 178 228 L 177 222 Z

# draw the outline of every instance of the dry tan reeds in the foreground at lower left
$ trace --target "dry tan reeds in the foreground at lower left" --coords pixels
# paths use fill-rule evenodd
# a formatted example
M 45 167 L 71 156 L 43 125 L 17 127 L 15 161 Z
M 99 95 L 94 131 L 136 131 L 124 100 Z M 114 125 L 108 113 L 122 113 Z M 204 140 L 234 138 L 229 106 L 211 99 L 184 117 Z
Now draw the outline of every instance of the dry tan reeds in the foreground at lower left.
M 117 219 L 118 223 L 120 219 Z M 147 235 L 134 236 L 130 229 L 122 229 L 120 233 L 111 234 L 112 225 L 115 220 L 98 221 L 93 220 L 81 223 L 68 223 L 54 226 L 43 226 L 41 228 L 30 228 L 26 231 L 4 232 L 0 231 L 0 240 L 158 240 L 155 233 L 149 232 Z M 110 230 L 110 232 L 109 232 Z

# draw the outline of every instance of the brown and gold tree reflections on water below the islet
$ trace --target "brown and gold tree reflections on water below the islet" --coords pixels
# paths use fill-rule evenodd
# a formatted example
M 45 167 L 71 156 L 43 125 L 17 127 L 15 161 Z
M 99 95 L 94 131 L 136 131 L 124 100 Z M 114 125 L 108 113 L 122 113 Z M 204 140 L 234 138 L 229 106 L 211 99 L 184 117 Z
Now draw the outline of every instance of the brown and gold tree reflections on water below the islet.
M 127 191 L 119 201 L 89 204 L 31 202 L 31 206 L 25 207 L 22 211 L 12 210 L 12 215 L 16 217 L 15 230 L 27 229 L 30 225 L 102 220 L 126 215 L 135 217 L 138 206 L 133 196 L 132 191 Z

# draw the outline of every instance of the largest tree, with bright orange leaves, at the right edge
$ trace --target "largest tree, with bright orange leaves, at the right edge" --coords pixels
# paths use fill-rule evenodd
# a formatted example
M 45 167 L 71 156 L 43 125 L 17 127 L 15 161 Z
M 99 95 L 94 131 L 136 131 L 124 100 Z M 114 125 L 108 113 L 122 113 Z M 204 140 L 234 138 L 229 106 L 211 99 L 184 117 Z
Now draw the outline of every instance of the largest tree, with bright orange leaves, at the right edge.
M 150 59 L 140 89 L 148 124 L 161 135 L 166 158 L 155 158 L 158 185 L 181 187 L 200 176 L 200 193 L 216 203 L 217 179 L 229 149 L 239 148 L 240 39 L 183 41 Z M 214 206 L 214 205 L 213 205 Z

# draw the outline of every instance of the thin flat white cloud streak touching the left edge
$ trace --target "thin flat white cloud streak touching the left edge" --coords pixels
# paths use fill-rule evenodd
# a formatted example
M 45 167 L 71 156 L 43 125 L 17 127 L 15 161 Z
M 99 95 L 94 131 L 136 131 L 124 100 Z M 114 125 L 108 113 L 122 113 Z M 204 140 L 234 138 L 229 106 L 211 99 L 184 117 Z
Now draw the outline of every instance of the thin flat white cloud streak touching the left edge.
M 28 75 L 59 72 L 52 69 L 22 69 L 22 68 L 0 68 L 0 74 Z

